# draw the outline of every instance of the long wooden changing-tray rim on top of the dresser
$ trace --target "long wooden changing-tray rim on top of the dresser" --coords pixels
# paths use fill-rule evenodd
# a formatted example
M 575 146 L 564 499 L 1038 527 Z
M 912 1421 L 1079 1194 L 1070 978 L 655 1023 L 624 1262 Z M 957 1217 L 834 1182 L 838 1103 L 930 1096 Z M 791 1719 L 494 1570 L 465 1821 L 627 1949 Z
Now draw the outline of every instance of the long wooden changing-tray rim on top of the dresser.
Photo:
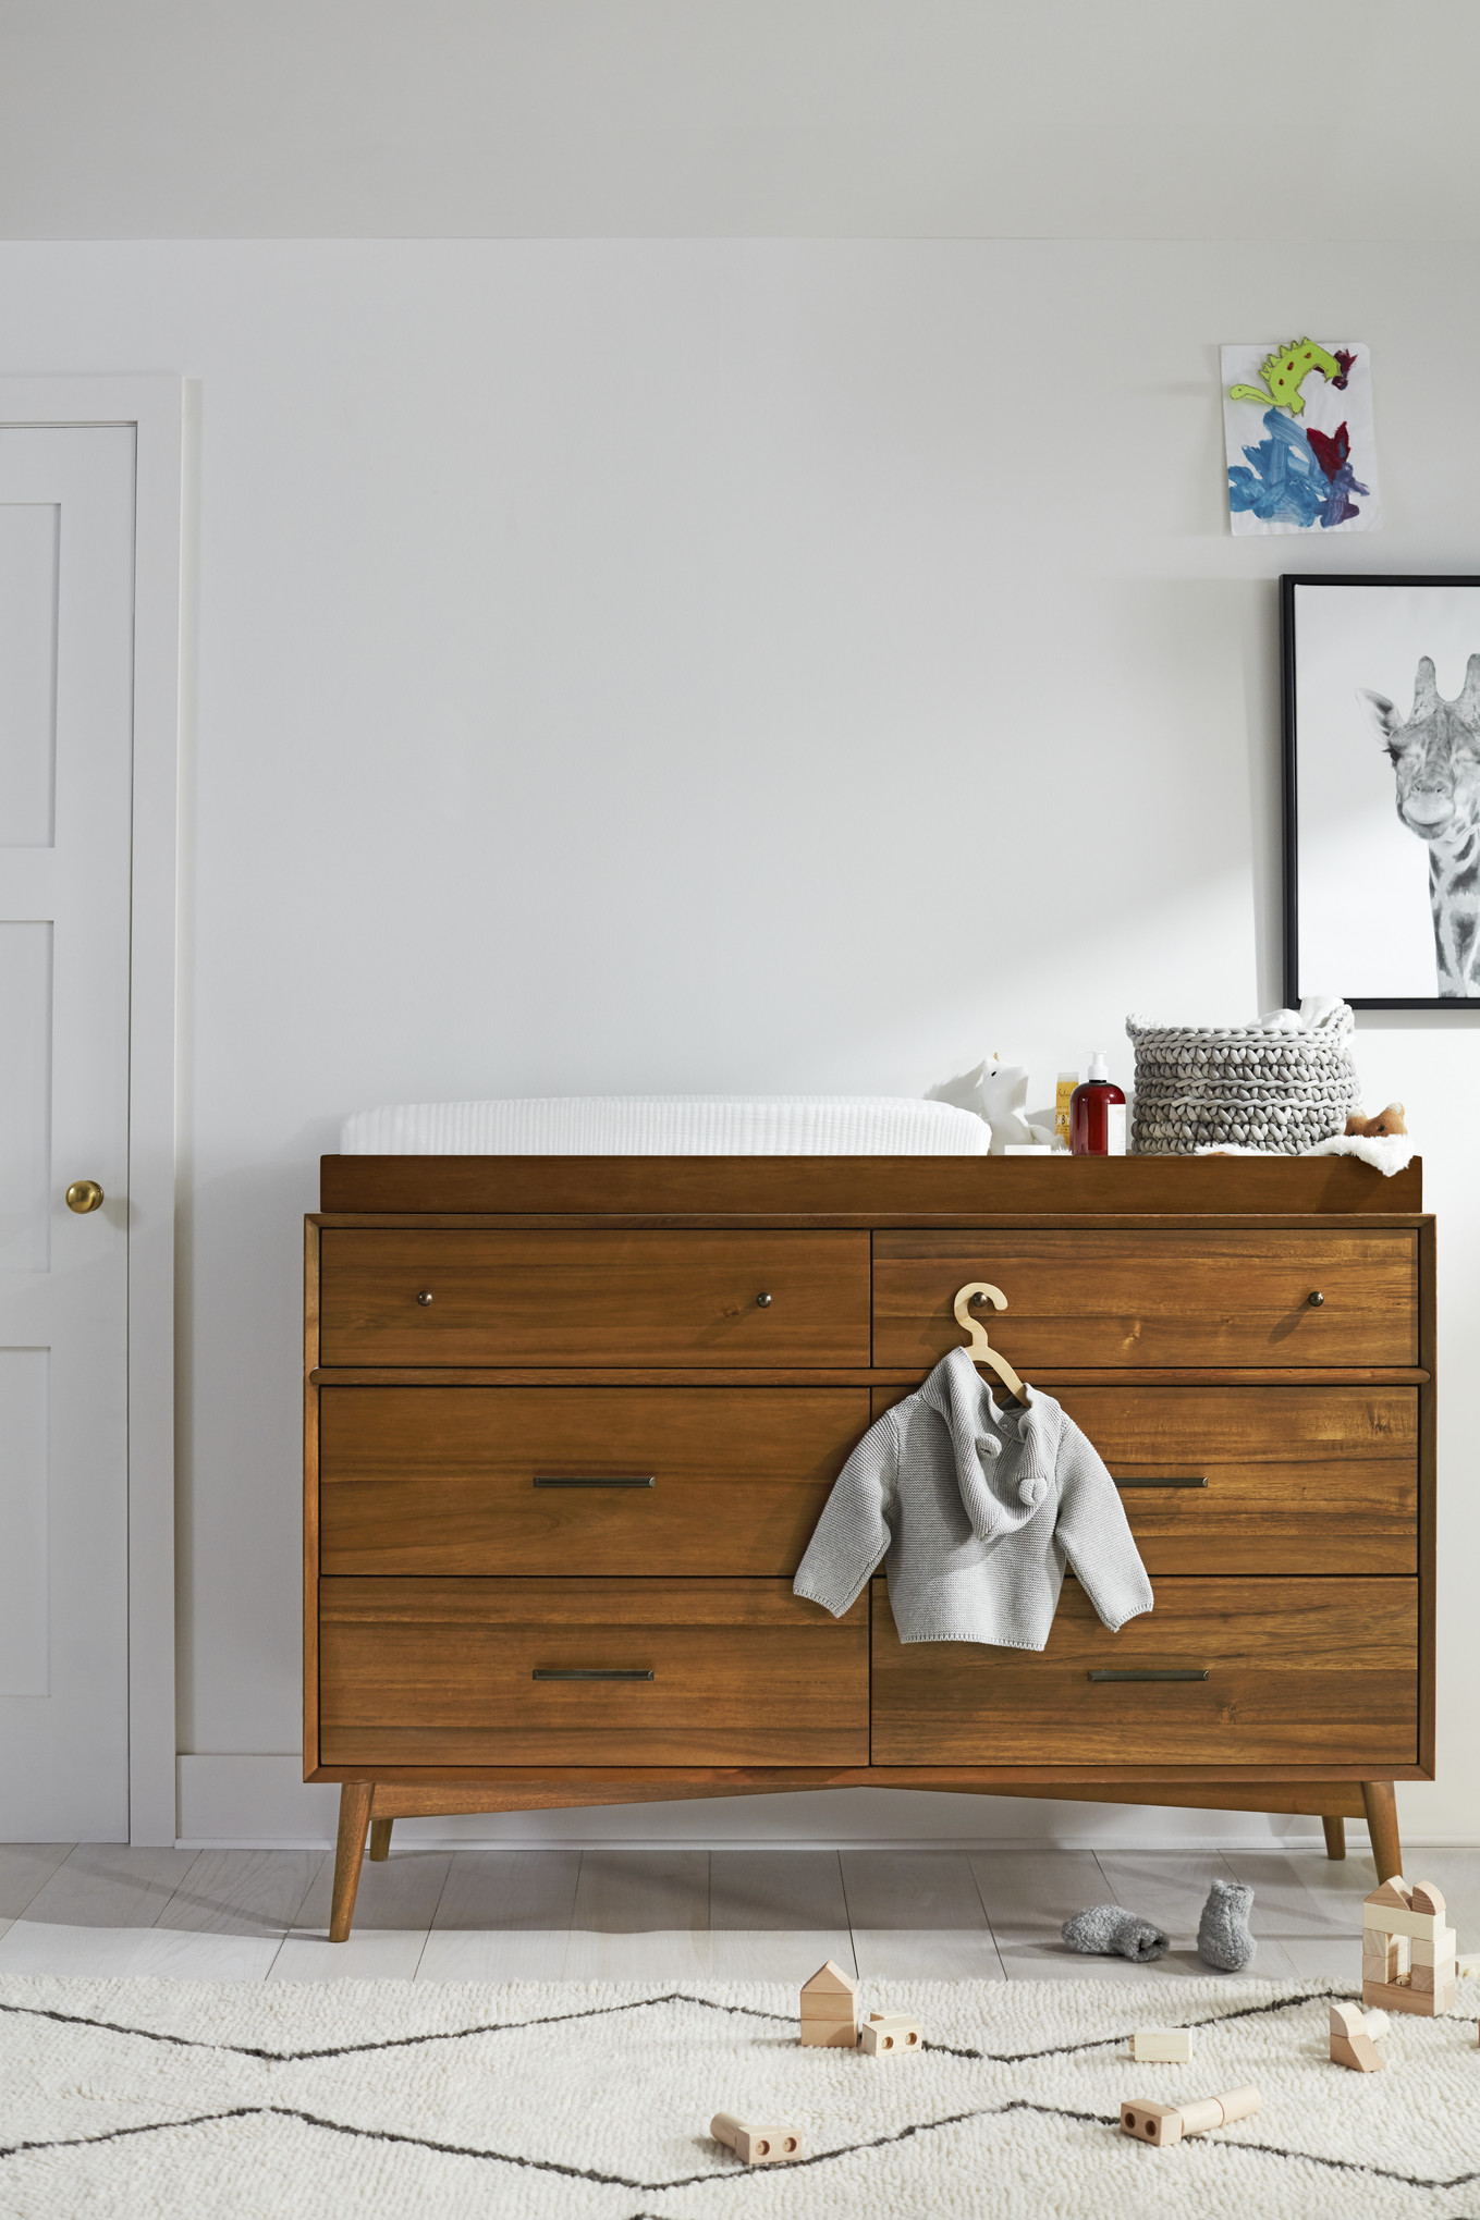
M 581 1212 L 859 1223 L 981 1217 L 1409 1217 L 1422 1159 L 1356 1157 L 322 1157 L 324 1212 Z

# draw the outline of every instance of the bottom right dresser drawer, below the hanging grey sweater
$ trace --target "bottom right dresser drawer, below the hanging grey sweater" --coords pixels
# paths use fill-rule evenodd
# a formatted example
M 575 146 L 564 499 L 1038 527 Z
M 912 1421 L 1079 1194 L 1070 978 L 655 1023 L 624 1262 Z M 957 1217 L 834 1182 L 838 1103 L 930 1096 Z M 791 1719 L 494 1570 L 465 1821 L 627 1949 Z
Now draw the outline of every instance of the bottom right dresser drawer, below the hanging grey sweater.
M 1156 1610 L 1109 1634 L 1065 1581 L 1041 1654 L 901 1643 L 874 1583 L 872 1760 L 1413 1765 L 1418 1583 L 1158 1578 Z

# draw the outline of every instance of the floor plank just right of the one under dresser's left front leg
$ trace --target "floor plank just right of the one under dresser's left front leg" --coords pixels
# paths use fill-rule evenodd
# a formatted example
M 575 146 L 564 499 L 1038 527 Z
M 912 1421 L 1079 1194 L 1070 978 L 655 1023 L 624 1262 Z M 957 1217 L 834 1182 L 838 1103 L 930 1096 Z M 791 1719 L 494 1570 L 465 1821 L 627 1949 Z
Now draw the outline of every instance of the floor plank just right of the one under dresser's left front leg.
M 459 1849 L 417 1980 L 559 1980 L 579 1849 Z

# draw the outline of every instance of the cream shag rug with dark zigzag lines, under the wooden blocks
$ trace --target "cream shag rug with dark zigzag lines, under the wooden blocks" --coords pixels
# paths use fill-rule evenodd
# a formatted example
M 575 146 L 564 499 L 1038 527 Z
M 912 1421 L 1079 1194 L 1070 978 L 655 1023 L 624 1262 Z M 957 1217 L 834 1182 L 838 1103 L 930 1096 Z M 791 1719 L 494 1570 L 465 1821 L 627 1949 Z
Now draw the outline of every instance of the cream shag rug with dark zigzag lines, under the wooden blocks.
M 810 1967 L 803 1971 L 812 1971 Z M 0 2213 L 24 2220 L 1462 2220 L 1480 2213 L 1480 1980 L 1327 2056 L 1318 1982 L 879 1982 L 914 2058 L 801 2049 L 774 1982 L 0 1982 Z M 1134 2065 L 1194 2025 L 1194 2062 Z M 1176 2149 L 1123 2098 L 1254 2082 Z M 797 2125 L 741 2167 L 714 2111 Z

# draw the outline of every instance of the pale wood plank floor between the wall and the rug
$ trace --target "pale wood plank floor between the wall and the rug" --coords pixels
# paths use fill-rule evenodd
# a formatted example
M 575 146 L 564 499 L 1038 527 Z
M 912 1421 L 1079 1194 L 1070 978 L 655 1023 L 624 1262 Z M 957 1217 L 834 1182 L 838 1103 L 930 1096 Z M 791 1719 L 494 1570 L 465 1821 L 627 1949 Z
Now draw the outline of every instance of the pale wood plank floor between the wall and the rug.
M 1356 1834 L 1356 1829 L 1354 1829 Z M 1480 1851 L 1425 1849 L 1460 1949 L 1480 1947 Z M 801 1980 L 823 1958 L 876 1980 L 1169 1980 L 1214 1876 L 1254 1883 L 1254 1974 L 1356 1978 L 1356 1843 L 1320 1851 L 393 1849 L 364 1867 L 333 1945 L 317 1849 L 0 1845 L 0 1976 L 178 1980 Z M 1061 1923 L 1121 1903 L 1172 1949 L 1152 1969 L 1078 1958 Z

